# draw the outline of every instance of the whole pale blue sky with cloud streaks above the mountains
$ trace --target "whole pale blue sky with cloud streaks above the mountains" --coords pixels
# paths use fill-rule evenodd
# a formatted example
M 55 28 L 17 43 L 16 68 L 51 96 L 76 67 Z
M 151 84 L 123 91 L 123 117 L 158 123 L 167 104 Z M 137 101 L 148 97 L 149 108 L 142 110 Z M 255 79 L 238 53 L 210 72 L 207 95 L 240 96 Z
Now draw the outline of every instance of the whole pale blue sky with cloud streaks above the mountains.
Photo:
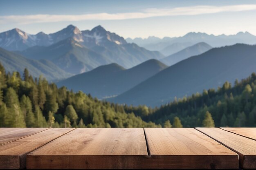
M 188 32 L 256 35 L 255 0 L 0 0 L 0 32 L 53 33 L 101 25 L 124 38 Z

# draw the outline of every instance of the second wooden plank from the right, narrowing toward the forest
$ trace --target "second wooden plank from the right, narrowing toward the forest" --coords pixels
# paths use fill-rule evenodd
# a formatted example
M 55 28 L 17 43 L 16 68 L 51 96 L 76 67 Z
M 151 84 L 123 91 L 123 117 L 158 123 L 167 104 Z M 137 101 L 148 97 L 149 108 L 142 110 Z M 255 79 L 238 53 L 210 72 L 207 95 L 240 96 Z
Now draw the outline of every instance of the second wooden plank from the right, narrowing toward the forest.
M 256 141 L 220 128 L 196 128 L 239 155 L 239 165 L 244 169 L 256 168 Z

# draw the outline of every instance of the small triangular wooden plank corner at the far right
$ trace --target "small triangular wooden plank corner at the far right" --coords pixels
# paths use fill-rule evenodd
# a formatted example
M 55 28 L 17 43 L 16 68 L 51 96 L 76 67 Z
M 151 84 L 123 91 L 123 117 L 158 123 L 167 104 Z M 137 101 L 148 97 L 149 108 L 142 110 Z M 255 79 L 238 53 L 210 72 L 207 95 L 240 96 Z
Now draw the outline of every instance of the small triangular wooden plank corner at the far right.
M 221 128 L 221 129 L 256 140 L 256 128 Z

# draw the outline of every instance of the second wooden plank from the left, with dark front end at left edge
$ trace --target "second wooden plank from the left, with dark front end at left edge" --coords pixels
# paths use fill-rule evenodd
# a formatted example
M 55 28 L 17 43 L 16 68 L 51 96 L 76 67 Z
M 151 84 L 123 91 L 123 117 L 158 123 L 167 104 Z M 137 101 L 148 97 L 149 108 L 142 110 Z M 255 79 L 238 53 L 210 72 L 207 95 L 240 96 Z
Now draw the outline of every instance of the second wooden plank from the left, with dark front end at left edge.
M 64 135 L 74 128 L 49 128 L 34 135 L 0 146 L 0 169 L 20 169 L 26 167 L 26 156 L 48 142 Z

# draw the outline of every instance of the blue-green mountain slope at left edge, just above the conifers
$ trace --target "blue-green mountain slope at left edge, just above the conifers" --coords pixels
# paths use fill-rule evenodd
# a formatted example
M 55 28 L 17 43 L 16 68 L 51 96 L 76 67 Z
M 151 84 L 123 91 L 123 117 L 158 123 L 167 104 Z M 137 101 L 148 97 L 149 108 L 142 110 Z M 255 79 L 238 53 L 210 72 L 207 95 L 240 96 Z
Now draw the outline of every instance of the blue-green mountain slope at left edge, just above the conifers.
M 48 60 L 37 61 L 27 59 L 22 55 L 18 55 L 2 48 L 0 48 L 0 62 L 7 72 L 12 73 L 13 71 L 18 71 L 22 75 L 24 69 L 27 68 L 33 77 L 44 75 L 49 81 L 67 78 L 72 75 L 66 73 Z

